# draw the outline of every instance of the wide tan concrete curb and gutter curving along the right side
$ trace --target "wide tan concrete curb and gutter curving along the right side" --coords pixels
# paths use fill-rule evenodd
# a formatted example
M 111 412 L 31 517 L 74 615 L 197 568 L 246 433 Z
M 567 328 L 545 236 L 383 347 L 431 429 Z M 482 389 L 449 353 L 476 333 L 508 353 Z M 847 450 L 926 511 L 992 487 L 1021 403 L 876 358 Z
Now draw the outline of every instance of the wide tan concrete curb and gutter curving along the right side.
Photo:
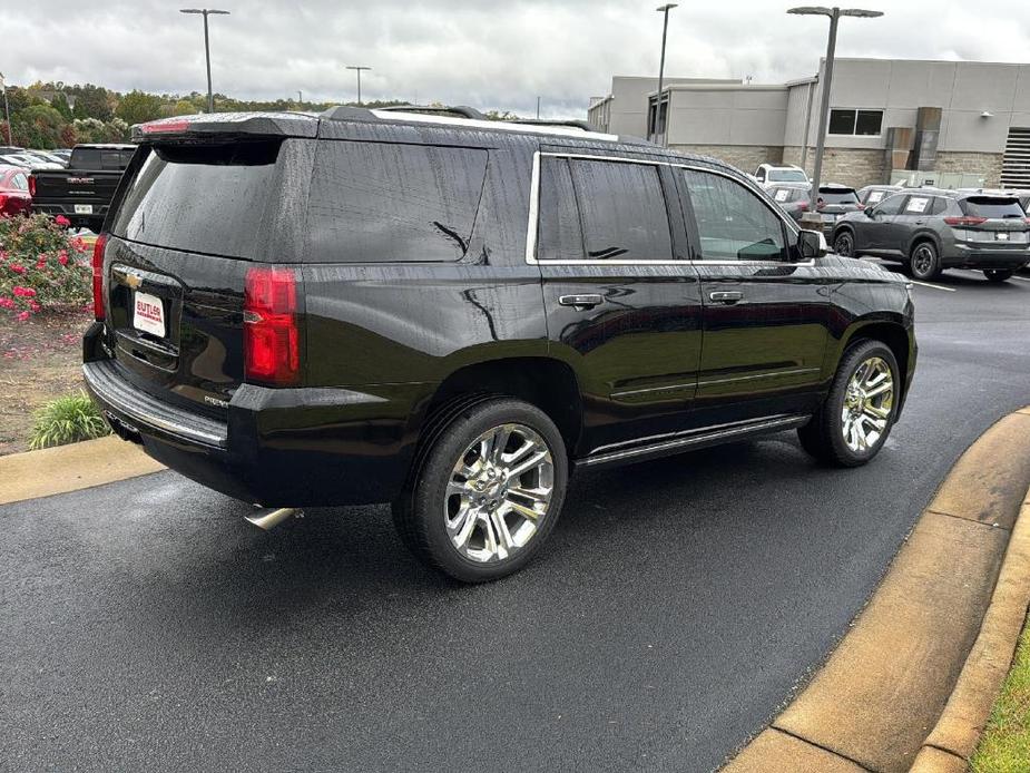
M 1030 408 L 962 454 L 824 667 L 724 770 L 964 771 L 1030 603 L 1028 489 Z

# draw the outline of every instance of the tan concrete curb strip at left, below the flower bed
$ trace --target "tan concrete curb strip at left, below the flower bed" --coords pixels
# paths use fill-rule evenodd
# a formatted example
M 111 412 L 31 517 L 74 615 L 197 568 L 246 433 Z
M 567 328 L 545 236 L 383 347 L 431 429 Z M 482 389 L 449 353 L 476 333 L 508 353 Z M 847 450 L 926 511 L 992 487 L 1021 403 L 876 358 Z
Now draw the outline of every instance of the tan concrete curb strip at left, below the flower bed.
M 115 436 L 0 457 L 0 505 L 50 497 L 165 469 Z

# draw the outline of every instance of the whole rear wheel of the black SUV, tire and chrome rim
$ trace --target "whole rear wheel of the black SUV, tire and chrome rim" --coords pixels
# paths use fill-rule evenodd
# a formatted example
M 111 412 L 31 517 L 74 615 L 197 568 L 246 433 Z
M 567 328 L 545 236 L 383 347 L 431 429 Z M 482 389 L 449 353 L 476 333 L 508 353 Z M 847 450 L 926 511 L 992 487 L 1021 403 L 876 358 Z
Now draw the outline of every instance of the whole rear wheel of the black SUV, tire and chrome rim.
M 555 528 L 567 480 L 565 442 L 546 413 L 510 398 L 478 402 L 425 451 L 394 524 L 430 567 L 463 583 L 499 579 Z

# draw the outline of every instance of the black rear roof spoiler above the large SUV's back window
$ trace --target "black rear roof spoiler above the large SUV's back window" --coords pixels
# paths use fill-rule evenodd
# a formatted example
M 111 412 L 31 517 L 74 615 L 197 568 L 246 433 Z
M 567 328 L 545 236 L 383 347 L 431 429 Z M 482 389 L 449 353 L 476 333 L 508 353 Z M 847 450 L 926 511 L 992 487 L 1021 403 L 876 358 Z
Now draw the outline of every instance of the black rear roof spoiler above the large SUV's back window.
M 213 135 L 315 137 L 318 118 L 310 112 L 205 112 L 176 116 L 133 126 L 133 141 L 200 139 Z

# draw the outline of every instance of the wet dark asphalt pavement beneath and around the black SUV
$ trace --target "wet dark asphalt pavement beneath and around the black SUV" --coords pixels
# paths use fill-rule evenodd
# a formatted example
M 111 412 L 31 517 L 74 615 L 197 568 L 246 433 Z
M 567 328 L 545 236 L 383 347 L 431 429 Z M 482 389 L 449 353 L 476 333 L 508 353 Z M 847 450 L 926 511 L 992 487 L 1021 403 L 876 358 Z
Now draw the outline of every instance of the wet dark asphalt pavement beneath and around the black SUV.
M 0 507 L 0 769 L 717 766 L 1030 403 L 1030 277 L 930 285 L 873 463 L 820 469 L 791 433 L 583 474 L 540 560 L 488 586 L 424 570 L 385 508 L 264 534 L 173 472 Z

